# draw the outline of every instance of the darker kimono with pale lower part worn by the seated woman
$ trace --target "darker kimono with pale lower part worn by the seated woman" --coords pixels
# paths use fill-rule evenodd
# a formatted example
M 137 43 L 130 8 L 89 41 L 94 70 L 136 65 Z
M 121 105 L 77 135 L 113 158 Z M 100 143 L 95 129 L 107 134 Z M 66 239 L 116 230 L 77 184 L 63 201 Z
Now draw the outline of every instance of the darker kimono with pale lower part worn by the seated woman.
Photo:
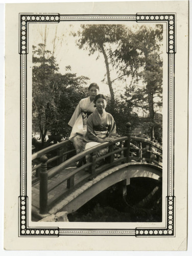
M 101 144 L 97 142 L 99 138 L 105 139 L 107 137 L 116 138 L 116 124 L 111 114 L 104 111 L 101 116 L 97 110 L 95 110 L 87 119 L 87 133 L 84 137 L 86 142 L 85 150 L 95 145 Z M 96 153 L 96 157 L 103 156 L 108 152 L 108 147 L 102 148 L 102 150 Z M 89 157 L 86 156 L 87 162 Z

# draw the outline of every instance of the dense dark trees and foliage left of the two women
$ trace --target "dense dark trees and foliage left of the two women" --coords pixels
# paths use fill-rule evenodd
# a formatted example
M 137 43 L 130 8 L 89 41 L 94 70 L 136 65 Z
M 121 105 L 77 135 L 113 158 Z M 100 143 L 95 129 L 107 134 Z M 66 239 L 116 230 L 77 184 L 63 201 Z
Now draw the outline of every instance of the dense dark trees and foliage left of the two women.
M 70 67 L 66 67 L 70 71 Z M 43 44 L 33 47 L 33 131 L 40 132 L 42 144 L 47 131 L 69 136 L 67 123 L 79 100 L 86 96 L 88 78 L 58 73 L 58 65 Z

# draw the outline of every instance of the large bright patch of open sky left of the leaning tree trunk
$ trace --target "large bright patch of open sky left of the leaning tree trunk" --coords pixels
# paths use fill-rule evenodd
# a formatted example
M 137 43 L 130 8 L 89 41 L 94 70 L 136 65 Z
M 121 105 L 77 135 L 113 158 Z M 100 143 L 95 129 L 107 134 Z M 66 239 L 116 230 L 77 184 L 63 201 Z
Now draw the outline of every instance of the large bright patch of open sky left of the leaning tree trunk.
M 69 35 L 71 31 L 78 31 L 80 25 L 69 24 L 47 24 L 47 50 L 53 51 L 53 39 L 55 37 L 57 27 L 57 39 L 56 39 L 56 51 L 55 57 L 59 65 L 59 72 L 64 74 L 65 67 L 71 66 L 71 73 L 77 73 L 78 76 L 87 76 L 90 78 L 88 83 L 96 82 L 100 86 L 100 92 L 109 94 L 108 85 L 101 82 L 103 80 L 106 67 L 104 63 L 104 57 L 100 55 L 98 60 L 98 54 L 89 56 L 89 52 L 83 49 L 79 49 L 76 45 L 77 37 Z M 43 43 L 45 24 L 33 25 L 31 37 L 33 45 Z

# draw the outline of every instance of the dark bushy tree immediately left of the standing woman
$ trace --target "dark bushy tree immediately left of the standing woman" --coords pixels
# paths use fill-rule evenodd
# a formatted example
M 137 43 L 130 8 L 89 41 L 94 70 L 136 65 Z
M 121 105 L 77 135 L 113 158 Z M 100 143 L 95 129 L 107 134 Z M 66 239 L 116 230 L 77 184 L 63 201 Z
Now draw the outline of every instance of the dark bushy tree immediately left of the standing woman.
M 89 78 L 84 76 L 77 77 L 76 74 L 66 73 L 65 75 L 56 74 L 51 80 L 55 84 L 55 119 L 52 120 L 50 132 L 53 135 L 60 134 L 68 138 L 71 127 L 68 122 L 73 115 L 76 106 L 82 98 L 88 94 L 85 87 Z

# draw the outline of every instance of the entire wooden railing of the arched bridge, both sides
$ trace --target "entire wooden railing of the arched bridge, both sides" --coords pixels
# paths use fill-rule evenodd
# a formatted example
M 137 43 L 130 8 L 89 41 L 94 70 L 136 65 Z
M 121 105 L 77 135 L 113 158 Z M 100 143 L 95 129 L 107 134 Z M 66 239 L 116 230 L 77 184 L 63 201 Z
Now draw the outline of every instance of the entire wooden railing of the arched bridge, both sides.
M 129 161 L 155 162 L 154 155 L 159 157 L 159 159 L 156 159 L 157 162 L 162 160 L 162 147 L 160 145 L 145 138 L 130 136 L 130 133 L 131 127 L 130 124 L 128 124 L 127 136 L 116 138 L 113 142 L 101 143 L 77 155 L 74 155 L 75 148 L 71 149 L 71 142 L 69 140 L 52 145 L 33 154 L 32 161 L 36 159 L 40 161 L 40 163 L 33 168 L 33 170 L 38 170 L 39 174 L 39 177 L 36 177 L 36 181 L 37 179 L 40 180 L 40 214 L 46 214 L 48 210 L 56 203 L 56 201 L 67 195 L 71 189 L 81 185 L 85 179 L 92 179 L 107 168 Z M 97 152 L 106 147 L 108 148 L 108 153 L 97 157 Z M 156 149 L 156 152 L 154 152 L 154 150 L 152 151 L 152 147 Z M 147 150 L 145 150 L 145 148 L 147 148 Z M 57 152 L 56 156 L 51 156 L 51 158 L 48 158 L 50 152 L 54 151 Z M 69 155 L 70 158 L 67 159 Z M 71 166 L 76 166 L 76 163 L 83 158 L 86 158 L 86 156 L 89 156 L 89 161 L 84 163 L 81 167 L 73 168 L 71 172 L 68 172 L 68 174 L 65 176 L 61 175 L 59 182 L 57 183 L 48 182 L 49 179 L 52 179 L 54 176 L 58 175 L 62 170 Z M 56 161 L 57 165 L 50 167 L 50 163 L 54 161 Z M 84 172 L 81 179 L 77 179 L 77 174 L 82 172 L 82 170 L 86 170 L 86 173 Z M 59 192 L 57 198 L 49 198 L 48 200 L 49 193 L 51 193 L 55 188 L 58 189 L 57 186 L 61 184 L 65 184 L 66 186 L 63 191 Z

